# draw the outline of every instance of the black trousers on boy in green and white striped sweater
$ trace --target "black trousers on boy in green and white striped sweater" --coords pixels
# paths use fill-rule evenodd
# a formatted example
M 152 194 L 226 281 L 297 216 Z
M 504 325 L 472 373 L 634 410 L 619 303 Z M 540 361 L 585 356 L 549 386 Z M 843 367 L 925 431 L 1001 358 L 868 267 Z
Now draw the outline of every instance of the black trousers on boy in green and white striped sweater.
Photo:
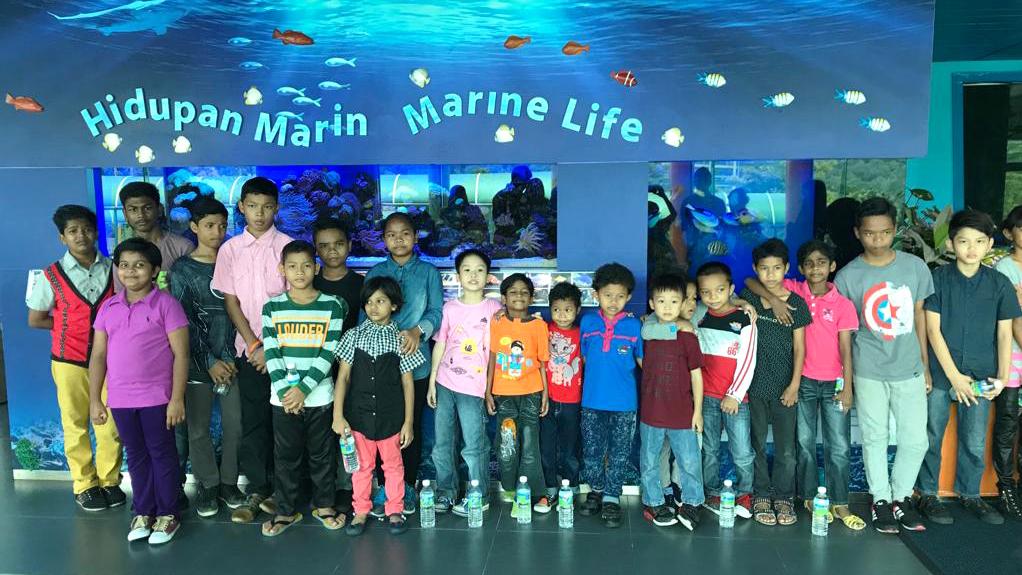
M 306 490 L 306 475 L 312 479 L 315 508 L 332 508 L 337 476 L 337 435 L 331 429 L 333 405 L 306 408 L 292 415 L 273 405 L 274 459 L 276 461 L 277 514 L 294 515 Z M 308 468 L 304 460 L 308 456 Z

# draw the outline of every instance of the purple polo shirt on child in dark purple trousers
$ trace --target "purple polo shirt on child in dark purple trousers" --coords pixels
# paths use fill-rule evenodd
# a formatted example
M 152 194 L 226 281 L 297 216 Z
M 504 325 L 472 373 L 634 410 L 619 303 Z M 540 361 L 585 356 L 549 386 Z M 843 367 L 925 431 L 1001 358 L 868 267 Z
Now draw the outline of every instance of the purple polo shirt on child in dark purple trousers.
M 171 401 L 174 351 L 168 335 L 188 329 L 173 295 L 153 289 L 129 304 L 127 292 L 103 302 L 94 324 L 106 332 L 106 396 L 110 408 L 151 408 Z

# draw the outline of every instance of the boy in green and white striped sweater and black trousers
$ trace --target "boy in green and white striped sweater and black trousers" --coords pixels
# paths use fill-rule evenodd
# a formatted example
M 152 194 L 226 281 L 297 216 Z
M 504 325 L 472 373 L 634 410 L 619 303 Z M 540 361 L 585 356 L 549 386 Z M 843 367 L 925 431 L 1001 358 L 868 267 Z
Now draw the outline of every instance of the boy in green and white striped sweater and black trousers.
M 275 500 L 277 515 L 263 524 L 274 537 L 301 520 L 295 500 L 308 457 L 313 517 L 330 530 L 344 524 L 334 511 L 337 436 L 333 425 L 333 357 L 347 304 L 313 287 L 316 248 L 294 240 L 280 254 L 280 275 L 288 290 L 263 305 L 263 345 L 273 405 Z M 297 380 L 290 381 L 290 371 Z

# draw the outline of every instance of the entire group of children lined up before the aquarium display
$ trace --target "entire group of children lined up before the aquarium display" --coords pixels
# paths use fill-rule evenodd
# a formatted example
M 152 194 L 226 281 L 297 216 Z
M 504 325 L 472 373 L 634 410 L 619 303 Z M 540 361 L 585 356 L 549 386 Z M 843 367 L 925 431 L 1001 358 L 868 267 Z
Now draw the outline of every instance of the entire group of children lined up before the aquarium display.
M 52 332 L 82 509 L 125 504 L 122 444 L 127 451 L 129 540 L 174 537 L 188 505 L 189 453 L 202 517 L 220 502 L 236 523 L 264 512 L 262 532 L 276 536 L 311 504 L 327 529 L 358 535 L 373 516 L 402 533 L 416 508 L 426 403 L 435 410 L 438 513 L 468 514 L 459 446 L 489 509 L 495 416 L 502 500 L 524 476 L 535 511 L 548 513 L 560 480 L 575 490 L 586 483 L 579 513 L 617 527 L 638 438 L 644 516 L 690 530 L 700 508 L 719 513 L 724 430 L 736 515 L 795 523 L 796 500 L 809 507 L 821 484 L 818 421 L 833 517 L 863 529 L 848 509 L 854 404 L 873 525 L 897 532 L 925 528 L 920 512 L 951 521 L 936 496 L 951 402 L 956 490 L 984 521 L 1003 521 L 979 497 L 993 402 L 1001 508 L 1022 518 L 1012 469 L 1022 207 L 1003 227 L 1016 251 L 998 263 L 1002 273 L 981 265 L 995 233 L 988 215 L 955 214 L 947 241 L 957 260 L 931 275 L 892 249 L 894 208 L 873 198 L 856 215 L 865 252 L 834 283 L 828 244 L 798 249 L 805 279 L 793 281 L 788 247 L 772 239 L 753 250 L 755 278 L 737 296 L 731 270 L 710 261 L 694 281 L 676 272 L 653 278 L 652 312 L 640 319 L 625 310 L 633 274 L 608 263 L 593 277 L 597 310 L 582 314 L 580 290 L 561 283 L 550 290 L 548 323 L 530 314 L 535 286 L 523 274 L 504 279 L 500 301 L 483 295 L 491 261 L 475 249 L 458 254 L 461 295 L 445 303 L 439 273 L 415 254 L 414 225 L 400 211 L 381 224 L 389 257 L 363 278 L 346 267 L 351 241 L 338 221 L 316 223 L 315 245 L 280 233 L 277 194 L 270 180 L 247 181 L 238 203 L 245 229 L 227 241 L 226 207 L 199 195 L 189 206 L 192 246 L 153 225 L 161 209 L 154 187 L 129 184 L 121 202 L 134 237 L 117 246 L 112 263 L 96 250 L 93 212 L 68 205 L 54 214 L 67 253 L 31 279 L 29 321 Z M 219 464 L 210 435 L 217 399 Z M 897 454 L 888 472 L 891 418 Z M 355 444 L 360 465 L 351 475 L 338 464 L 338 436 Z

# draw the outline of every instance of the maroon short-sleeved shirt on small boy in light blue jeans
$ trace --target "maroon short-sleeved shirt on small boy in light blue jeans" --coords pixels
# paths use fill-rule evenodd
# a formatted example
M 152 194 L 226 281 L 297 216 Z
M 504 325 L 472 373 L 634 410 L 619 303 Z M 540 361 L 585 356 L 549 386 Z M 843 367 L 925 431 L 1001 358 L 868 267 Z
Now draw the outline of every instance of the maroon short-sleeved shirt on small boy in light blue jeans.
M 653 427 L 690 429 L 695 403 L 692 370 L 702 368 L 695 334 L 678 332 L 677 339 L 645 342 L 639 420 Z

